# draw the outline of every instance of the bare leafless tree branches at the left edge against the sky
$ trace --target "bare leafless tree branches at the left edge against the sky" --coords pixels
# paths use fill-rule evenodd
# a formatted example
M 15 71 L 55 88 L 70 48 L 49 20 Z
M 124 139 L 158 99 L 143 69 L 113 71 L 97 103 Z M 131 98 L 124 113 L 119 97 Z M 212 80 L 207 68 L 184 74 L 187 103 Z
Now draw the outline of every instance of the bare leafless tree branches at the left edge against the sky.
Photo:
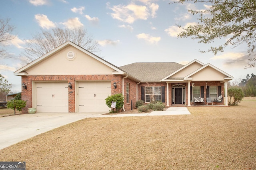
M 0 58 L 8 58 L 6 55 L 7 41 L 14 39 L 15 35 L 11 35 L 15 27 L 9 24 L 10 19 L 0 19 Z

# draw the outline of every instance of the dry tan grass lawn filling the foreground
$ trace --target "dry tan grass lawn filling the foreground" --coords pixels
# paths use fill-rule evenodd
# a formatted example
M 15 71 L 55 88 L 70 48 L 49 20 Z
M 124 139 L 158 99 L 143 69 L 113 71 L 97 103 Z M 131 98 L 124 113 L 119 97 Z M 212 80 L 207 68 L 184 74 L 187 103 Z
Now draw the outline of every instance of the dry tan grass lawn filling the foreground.
M 88 118 L 0 150 L 28 170 L 256 169 L 256 98 L 191 115 Z

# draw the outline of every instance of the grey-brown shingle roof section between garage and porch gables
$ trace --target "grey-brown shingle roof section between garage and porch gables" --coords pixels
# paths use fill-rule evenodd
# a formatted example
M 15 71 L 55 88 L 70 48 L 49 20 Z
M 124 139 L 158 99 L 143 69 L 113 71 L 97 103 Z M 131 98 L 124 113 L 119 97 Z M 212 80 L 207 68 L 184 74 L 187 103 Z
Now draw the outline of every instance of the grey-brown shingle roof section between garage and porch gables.
M 181 68 L 178 63 L 132 63 L 119 68 L 132 76 L 141 80 L 141 82 L 161 82 L 172 72 Z

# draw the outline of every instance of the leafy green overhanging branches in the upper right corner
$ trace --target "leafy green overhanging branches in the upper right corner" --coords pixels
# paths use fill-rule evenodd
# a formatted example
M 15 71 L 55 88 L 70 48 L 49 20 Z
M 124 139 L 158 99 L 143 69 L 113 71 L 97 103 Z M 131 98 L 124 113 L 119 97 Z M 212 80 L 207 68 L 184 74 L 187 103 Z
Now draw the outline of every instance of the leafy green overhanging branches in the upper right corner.
M 237 47 L 246 44 L 248 49 L 248 67 L 255 67 L 256 57 L 256 0 L 178 0 L 175 3 L 197 2 L 210 5 L 206 10 L 189 10 L 198 15 L 198 23 L 183 28 L 178 37 L 198 39 L 198 43 L 209 44 L 224 38 L 226 42 L 218 47 L 211 47 L 208 52 L 216 55 L 225 47 Z M 201 51 L 205 53 L 206 51 Z

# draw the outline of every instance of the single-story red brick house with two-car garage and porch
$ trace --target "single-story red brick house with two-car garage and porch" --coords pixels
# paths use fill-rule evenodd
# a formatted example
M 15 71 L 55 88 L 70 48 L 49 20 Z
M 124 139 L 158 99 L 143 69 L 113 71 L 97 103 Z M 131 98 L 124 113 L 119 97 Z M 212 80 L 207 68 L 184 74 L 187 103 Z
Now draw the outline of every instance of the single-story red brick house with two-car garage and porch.
M 193 60 L 178 63 L 133 63 L 117 67 L 67 41 L 20 68 L 22 100 L 37 112 L 106 111 L 105 99 L 122 93 L 124 109 L 137 100 L 161 101 L 166 106 L 191 106 L 195 97 L 227 96 L 233 77 L 212 64 Z M 225 92 L 225 95 L 224 95 Z M 227 105 L 227 98 L 226 98 Z M 224 105 L 224 101 L 215 103 Z

